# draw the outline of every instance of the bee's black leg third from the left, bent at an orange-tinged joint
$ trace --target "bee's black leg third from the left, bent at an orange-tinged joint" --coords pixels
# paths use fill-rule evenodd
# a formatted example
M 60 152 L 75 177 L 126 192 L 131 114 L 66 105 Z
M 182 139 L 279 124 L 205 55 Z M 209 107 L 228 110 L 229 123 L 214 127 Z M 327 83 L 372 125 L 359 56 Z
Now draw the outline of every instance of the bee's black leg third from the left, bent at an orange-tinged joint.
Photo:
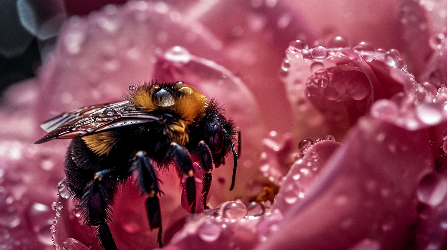
M 169 159 L 174 161 L 180 172 L 188 175 L 188 178 L 186 179 L 186 197 L 188 199 L 188 204 L 191 206 L 190 212 L 195 212 L 196 188 L 194 180 L 194 167 L 188 150 L 175 142 L 171 142 L 165 159 L 165 162 L 169 162 Z

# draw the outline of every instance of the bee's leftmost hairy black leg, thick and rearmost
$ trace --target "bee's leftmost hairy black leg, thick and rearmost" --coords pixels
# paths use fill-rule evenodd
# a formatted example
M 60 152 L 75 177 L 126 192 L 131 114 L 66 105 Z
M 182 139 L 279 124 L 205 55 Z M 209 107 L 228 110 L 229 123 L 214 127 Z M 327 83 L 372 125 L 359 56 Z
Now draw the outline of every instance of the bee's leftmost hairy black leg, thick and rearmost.
M 82 196 L 81 207 L 88 211 L 85 222 L 88 225 L 97 226 L 96 238 L 99 245 L 104 250 L 116 250 L 116 244 L 113 239 L 107 220 L 110 220 L 109 203 L 110 194 L 113 190 L 106 190 L 100 183 L 99 178 L 95 178 L 89 182 Z

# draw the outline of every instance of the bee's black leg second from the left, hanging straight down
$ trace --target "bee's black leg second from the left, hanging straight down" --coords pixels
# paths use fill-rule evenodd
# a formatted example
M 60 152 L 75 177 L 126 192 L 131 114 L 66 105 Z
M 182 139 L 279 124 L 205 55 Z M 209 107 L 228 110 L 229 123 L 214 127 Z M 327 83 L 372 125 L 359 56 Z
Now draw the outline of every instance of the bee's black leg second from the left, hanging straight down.
M 158 228 L 157 242 L 161 247 L 163 243 L 161 241 L 163 229 L 161 227 L 161 211 L 160 201 L 157 195 L 161 193 L 157 179 L 157 175 L 154 171 L 154 167 L 149 162 L 146 152 L 138 151 L 135 155 L 134 170 L 138 171 L 138 184 L 143 193 L 149 194 L 146 199 L 146 214 L 148 216 L 149 227 L 152 229 Z

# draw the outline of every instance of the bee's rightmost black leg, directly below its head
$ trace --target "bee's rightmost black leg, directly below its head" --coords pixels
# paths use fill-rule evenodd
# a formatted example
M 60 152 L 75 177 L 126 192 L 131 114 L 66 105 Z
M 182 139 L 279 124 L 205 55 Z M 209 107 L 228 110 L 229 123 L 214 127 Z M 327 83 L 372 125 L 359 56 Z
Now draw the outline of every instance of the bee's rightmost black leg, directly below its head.
M 205 174 L 203 174 L 202 179 L 202 194 L 203 194 L 202 204 L 203 209 L 208 209 L 207 198 L 211 187 L 211 180 L 212 180 L 211 171 L 213 170 L 213 157 L 211 154 L 210 147 L 204 141 L 200 141 L 198 143 L 196 154 L 200 158 L 200 167 L 202 167 L 203 170 L 206 172 Z

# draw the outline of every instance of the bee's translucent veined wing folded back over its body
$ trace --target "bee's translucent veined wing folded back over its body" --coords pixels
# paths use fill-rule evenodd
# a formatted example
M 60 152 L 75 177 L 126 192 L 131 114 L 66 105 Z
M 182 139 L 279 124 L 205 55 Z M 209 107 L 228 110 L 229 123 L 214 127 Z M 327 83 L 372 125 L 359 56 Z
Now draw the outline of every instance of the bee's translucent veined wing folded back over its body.
M 55 129 L 34 143 L 39 144 L 53 139 L 75 138 L 90 133 L 148 122 L 160 123 L 160 116 L 132 110 L 131 106 L 127 104 L 128 102 L 124 101 L 115 104 L 89 106 L 63 113 L 43 123 L 44 127 Z

